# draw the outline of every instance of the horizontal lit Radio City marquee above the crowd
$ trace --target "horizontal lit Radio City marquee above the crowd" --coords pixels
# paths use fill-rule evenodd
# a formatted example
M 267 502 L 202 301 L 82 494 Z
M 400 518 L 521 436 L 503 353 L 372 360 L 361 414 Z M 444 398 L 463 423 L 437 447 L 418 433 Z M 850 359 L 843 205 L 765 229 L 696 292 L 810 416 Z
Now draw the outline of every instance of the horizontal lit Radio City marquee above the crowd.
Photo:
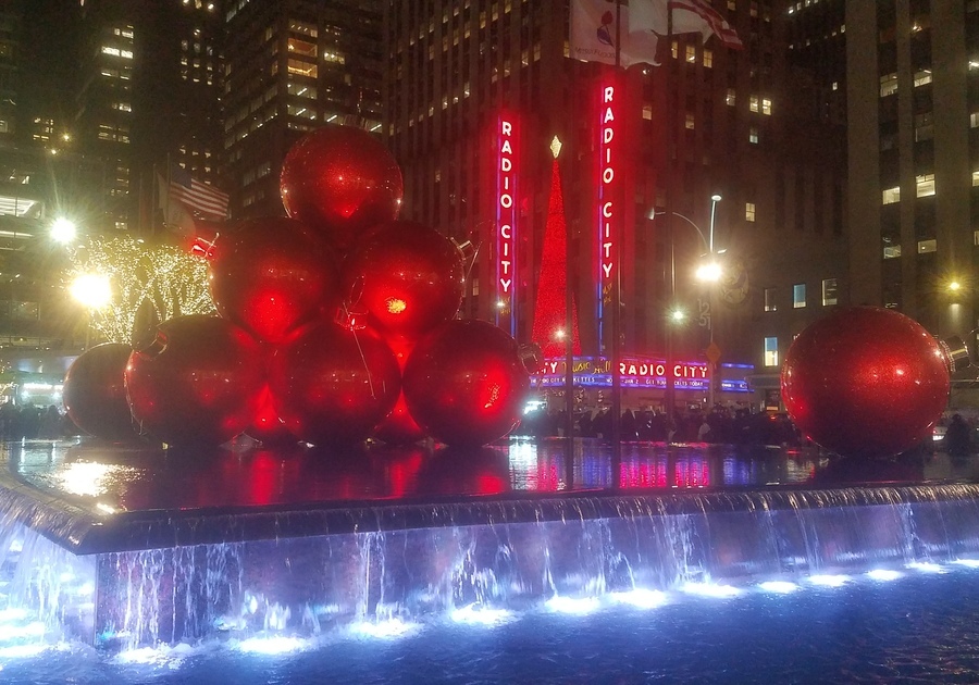
M 611 386 L 611 362 L 604 357 L 575 357 L 572 372 L 574 384 L 584 387 Z M 531 382 L 534 387 L 554 387 L 565 385 L 567 362 L 562 357 L 548 358 L 544 369 Z M 623 359 L 619 363 L 619 375 L 622 387 L 665 388 L 667 378 L 672 376 L 673 387 L 687 390 L 706 390 L 709 385 L 709 372 L 706 362 L 678 361 L 667 365 L 664 360 Z M 720 389 L 730 393 L 749 393 L 744 381 L 722 379 Z

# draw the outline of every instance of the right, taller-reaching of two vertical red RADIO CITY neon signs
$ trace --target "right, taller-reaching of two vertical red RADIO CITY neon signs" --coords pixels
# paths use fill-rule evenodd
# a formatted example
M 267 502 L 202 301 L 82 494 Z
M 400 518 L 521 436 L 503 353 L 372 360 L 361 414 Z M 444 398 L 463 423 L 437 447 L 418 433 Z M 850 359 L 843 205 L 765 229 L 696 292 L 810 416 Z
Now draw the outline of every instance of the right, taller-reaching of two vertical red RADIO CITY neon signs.
M 600 115 L 602 138 L 598 145 L 598 297 L 597 320 L 598 340 L 605 338 L 605 307 L 611 304 L 611 294 L 616 282 L 616 233 L 618 219 L 615 201 L 616 180 L 616 86 L 602 87 Z

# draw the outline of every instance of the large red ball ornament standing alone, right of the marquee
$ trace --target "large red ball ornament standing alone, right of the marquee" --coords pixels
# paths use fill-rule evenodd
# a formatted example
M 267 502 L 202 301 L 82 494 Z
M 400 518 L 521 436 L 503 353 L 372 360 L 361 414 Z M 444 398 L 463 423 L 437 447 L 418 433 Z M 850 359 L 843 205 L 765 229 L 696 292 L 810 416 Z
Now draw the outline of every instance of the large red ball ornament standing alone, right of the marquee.
M 904 314 L 847 308 L 792 342 L 782 399 L 822 447 L 847 457 L 893 456 L 930 439 L 949 400 L 951 363 L 942 344 Z

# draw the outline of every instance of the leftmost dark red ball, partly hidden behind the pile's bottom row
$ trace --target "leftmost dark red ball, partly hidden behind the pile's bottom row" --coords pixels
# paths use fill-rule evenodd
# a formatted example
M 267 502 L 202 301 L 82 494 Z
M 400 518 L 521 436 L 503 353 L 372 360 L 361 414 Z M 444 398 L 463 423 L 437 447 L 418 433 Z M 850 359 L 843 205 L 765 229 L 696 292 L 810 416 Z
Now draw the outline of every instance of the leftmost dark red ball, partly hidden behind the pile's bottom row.
M 82 352 L 69 366 L 64 409 L 89 435 L 112 441 L 139 437 L 126 401 L 125 370 L 132 351 L 128 345 L 106 342 Z

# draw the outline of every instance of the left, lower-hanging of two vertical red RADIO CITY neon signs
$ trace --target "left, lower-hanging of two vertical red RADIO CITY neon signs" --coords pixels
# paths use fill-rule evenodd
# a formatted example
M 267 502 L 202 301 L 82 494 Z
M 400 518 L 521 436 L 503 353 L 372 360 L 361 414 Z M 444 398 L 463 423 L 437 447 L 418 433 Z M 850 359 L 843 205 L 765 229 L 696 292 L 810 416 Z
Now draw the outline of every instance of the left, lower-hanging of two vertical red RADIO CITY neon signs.
M 507 116 L 500 116 L 497 128 L 496 164 L 496 323 L 516 333 L 517 241 L 515 239 L 515 209 L 517 174 L 513 170 L 516 126 Z M 507 326 L 504 326 L 504 324 Z

